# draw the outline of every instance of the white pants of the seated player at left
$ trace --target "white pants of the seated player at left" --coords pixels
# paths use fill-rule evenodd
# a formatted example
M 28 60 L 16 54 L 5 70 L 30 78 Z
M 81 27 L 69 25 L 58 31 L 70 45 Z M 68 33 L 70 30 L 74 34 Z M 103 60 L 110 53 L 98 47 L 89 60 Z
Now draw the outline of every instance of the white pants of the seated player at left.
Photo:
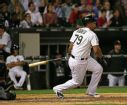
M 9 77 L 10 79 L 14 82 L 15 86 L 22 87 L 23 83 L 25 82 L 26 79 L 26 72 L 23 70 L 19 69 L 13 69 L 9 71 Z M 16 80 L 16 77 L 20 77 L 19 82 Z

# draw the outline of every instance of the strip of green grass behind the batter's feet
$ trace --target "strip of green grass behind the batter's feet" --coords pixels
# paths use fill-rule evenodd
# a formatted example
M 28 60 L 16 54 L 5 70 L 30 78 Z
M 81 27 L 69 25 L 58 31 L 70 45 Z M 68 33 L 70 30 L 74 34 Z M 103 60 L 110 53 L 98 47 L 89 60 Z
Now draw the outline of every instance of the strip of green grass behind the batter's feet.
M 70 89 L 65 91 L 67 94 L 80 94 L 85 93 L 86 88 L 77 88 L 77 89 Z M 127 93 L 127 87 L 99 87 L 97 89 L 98 93 Z M 42 90 L 17 90 L 17 94 L 53 94 L 52 89 L 42 89 Z

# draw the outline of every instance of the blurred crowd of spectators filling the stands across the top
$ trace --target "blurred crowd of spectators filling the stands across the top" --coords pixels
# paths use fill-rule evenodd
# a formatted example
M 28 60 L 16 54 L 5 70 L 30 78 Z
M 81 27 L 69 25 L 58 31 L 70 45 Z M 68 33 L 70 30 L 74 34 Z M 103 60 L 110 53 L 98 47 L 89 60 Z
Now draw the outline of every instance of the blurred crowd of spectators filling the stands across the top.
M 0 0 L 0 23 L 9 28 L 79 28 L 87 14 L 99 28 L 127 26 L 127 0 Z

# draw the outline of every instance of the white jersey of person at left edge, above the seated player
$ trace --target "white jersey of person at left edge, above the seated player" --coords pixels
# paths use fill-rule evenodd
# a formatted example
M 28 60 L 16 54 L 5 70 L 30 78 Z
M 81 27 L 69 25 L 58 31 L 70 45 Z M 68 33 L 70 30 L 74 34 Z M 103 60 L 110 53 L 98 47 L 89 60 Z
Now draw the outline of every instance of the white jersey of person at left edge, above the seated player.
M 10 53 L 10 48 L 11 48 L 11 38 L 10 35 L 7 32 L 4 32 L 2 37 L 0 37 L 0 44 L 6 45 L 4 50 L 8 53 Z

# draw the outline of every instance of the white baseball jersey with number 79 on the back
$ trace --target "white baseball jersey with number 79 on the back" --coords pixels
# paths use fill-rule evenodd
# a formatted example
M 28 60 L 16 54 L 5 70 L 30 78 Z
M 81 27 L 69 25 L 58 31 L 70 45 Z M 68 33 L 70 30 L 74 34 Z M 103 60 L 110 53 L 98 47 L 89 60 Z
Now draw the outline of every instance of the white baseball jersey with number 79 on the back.
M 74 43 L 71 54 L 80 58 L 89 57 L 92 46 L 99 45 L 96 34 L 89 28 L 74 31 L 70 42 Z

